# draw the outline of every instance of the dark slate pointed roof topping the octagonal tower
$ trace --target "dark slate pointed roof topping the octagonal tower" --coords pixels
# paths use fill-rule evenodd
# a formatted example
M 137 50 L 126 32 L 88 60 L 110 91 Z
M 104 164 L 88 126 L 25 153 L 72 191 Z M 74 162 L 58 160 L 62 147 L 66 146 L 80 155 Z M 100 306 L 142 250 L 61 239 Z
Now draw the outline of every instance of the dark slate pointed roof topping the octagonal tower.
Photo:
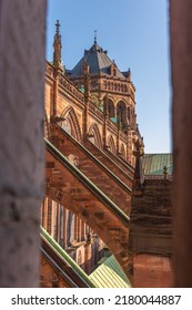
M 88 63 L 91 74 L 98 74 L 100 72 L 110 74 L 110 65 L 113 63 L 108 56 L 108 52 L 100 48 L 97 42 L 94 42 L 90 50 L 84 50 L 84 55 L 71 70 L 71 76 L 82 75 L 82 64 L 84 61 Z M 124 75 L 120 72 L 118 68 L 117 76 L 124 79 Z

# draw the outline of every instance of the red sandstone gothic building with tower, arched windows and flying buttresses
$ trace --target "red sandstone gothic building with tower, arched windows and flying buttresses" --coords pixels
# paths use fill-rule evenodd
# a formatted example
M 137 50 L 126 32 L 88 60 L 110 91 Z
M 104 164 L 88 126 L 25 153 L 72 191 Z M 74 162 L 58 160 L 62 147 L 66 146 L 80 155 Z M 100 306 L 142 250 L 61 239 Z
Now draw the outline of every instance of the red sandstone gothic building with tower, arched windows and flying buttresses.
M 164 223 L 170 228 L 170 180 L 161 175 L 154 184 L 143 176 L 144 145 L 137 124 L 131 71 L 121 72 L 97 37 L 78 64 L 67 70 L 61 61 L 59 22 L 55 27 L 53 62 L 46 63 L 41 286 L 91 287 L 87 275 L 98 267 L 105 247 L 133 286 L 170 286 L 171 230 L 161 230 Z M 155 188 L 165 199 L 153 195 Z M 142 221 L 145 203 L 148 215 Z M 150 208 L 161 223 L 156 228 L 160 247 L 145 242 L 156 234 L 143 229 Z M 146 261 L 154 262 L 153 275 L 150 266 L 145 272 Z

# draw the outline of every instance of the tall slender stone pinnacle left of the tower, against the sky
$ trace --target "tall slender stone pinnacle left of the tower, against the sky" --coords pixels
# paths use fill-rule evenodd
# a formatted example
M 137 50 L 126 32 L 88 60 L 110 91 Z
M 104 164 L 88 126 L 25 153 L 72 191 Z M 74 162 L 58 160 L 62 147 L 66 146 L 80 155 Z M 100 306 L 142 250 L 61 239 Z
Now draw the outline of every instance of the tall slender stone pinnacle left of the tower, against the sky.
M 53 42 L 53 65 L 55 68 L 61 68 L 62 66 L 62 60 L 61 60 L 61 49 L 62 49 L 62 43 L 61 43 L 61 34 L 60 34 L 60 23 L 59 20 L 57 20 L 55 23 L 55 34 L 54 34 L 54 42 Z

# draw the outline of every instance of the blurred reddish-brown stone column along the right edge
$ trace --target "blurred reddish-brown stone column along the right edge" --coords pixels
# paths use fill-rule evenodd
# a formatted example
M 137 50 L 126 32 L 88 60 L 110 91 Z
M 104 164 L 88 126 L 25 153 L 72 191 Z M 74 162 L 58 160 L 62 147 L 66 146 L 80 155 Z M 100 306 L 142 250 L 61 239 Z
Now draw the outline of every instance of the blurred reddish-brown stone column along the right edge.
M 175 287 L 192 287 L 192 1 L 170 0 Z

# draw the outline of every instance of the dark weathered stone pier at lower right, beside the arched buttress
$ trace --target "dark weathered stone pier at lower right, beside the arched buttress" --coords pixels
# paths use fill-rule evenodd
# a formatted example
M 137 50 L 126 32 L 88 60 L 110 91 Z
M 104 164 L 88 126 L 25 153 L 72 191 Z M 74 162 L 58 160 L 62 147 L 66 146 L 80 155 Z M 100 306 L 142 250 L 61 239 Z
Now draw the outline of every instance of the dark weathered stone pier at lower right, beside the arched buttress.
M 171 183 L 145 179 L 133 187 L 129 249 L 134 287 L 173 286 Z

